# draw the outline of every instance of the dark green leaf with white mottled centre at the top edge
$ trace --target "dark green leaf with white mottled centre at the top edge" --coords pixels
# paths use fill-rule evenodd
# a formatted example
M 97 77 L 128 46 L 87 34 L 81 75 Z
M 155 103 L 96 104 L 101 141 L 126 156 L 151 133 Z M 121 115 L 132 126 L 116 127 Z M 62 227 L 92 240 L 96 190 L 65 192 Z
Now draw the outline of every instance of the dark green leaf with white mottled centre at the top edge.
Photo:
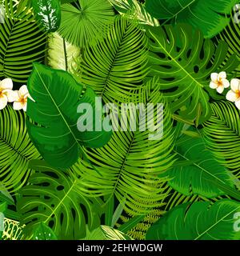
M 58 30 L 61 22 L 59 0 L 34 0 L 31 4 L 35 17 L 46 32 Z

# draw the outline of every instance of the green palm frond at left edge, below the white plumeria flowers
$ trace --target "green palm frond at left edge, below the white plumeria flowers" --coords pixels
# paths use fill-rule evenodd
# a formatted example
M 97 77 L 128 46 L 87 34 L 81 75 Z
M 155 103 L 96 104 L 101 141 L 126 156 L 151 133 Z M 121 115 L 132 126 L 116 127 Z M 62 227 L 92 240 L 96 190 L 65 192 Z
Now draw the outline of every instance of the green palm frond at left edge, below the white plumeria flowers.
M 11 106 L 0 111 L 0 184 L 10 191 L 18 190 L 26 182 L 31 171 L 29 161 L 41 158 L 30 142 L 25 118 L 26 114 Z

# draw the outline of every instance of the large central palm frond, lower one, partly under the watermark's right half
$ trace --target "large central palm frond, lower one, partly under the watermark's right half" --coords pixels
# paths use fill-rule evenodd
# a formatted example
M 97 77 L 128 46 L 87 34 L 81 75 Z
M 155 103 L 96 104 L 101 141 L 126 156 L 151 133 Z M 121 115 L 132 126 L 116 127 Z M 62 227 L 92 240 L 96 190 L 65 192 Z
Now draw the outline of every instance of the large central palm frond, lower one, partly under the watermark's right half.
M 158 118 L 163 118 L 162 138 L 150 140 L 150 131 L 115 131 L 106 146 L 96 150 L 86 150 L 90 162 L 95 166 L 81 161 L 74 166 L 74 171 L 81 176 L 81 190 L 86 196 L 105 196 L 106 198 L 118 198 L 124 205 L 124 209 L 130 210 L 134 216 L 148 214 L 154 207 L 161 206 L 162 198 L 167 196 L 163 193 L 162 182 L 166 178 L 158 178 L 158 174 L 173 165 L 174 132 L 170 118 L 170 111 L 166 102 L 156 86 L 151 91 L 150 87 L 155 80 L 149 82 L 142 89 L 142 102 L 145 104 L 164 104 L 163 113 Z M 139 91 L 138 91 L 139 94 Z M 140 100 L 139 100 L 140 102 Z M 130 117 L 127 119 L 130 122 Z M 154 109 L 154 122 L 156 122 L 156 109 Z M 159 120 L 159 119 L 158 119 Z M 139 118 L 137 117 L 137 127 Z M 150 127 L 148 127 L 150 128 Z

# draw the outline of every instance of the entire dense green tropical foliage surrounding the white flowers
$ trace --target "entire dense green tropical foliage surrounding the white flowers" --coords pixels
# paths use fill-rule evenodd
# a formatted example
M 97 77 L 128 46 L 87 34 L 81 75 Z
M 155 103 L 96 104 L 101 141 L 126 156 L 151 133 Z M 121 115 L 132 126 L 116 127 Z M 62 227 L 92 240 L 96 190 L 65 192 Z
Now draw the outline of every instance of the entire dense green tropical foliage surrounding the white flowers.
M 0 238 L 240 239 L 240 112 L 210 89 L 239 78 L 238 1 L 0 3 L 0 79 L 34 98 L 0 110 Z M 80 132 L 82 102 L 162 103 L 163 136 Z

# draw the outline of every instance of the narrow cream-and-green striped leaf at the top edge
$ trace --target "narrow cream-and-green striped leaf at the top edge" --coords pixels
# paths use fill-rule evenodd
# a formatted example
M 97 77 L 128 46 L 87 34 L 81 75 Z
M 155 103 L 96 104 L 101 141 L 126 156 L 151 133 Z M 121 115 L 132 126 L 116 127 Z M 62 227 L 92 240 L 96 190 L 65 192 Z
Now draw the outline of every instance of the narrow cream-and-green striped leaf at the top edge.
M 136 19 L 142 25 L 159 26 L 158 19 L 151 16 L 137 0 L 110 0 L 110 3 L 126 18 Z

